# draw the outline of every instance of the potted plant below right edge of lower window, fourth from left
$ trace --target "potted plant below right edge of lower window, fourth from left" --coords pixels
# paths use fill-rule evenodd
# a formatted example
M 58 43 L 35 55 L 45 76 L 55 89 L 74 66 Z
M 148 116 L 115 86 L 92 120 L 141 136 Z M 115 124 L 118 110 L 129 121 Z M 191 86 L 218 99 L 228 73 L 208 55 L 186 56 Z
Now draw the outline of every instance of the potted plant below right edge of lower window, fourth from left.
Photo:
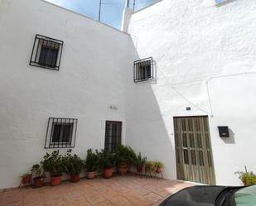
M 71 182 L 79 182 L 80 181 L 80 173 L 84 168 L 84 162 L 77 155 L 71 155 L 71 150 L 67 151 L 64 156 L 64 168 L 65 173 L 70 175 Z

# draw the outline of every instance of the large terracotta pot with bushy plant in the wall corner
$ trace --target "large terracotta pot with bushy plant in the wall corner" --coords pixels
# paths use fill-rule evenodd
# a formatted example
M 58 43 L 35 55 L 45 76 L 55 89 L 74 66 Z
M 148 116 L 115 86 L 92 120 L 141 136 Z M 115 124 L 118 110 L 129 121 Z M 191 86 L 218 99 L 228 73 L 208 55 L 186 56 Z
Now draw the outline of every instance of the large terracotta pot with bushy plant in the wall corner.
M 115 153 L 115 159 L 118 166 L 118 173 L 125 175 L 131 163 L 136 159 L 136 155 L 130 146 L 120 145 Z

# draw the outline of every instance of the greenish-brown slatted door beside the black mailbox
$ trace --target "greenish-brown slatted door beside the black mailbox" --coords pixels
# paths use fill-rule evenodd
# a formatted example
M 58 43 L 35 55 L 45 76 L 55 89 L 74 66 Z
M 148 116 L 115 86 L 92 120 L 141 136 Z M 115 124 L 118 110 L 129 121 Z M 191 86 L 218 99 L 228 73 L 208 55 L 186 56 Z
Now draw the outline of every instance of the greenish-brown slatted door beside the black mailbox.
M 207 116 L 174 117 L 177 179 L 215 184 Z

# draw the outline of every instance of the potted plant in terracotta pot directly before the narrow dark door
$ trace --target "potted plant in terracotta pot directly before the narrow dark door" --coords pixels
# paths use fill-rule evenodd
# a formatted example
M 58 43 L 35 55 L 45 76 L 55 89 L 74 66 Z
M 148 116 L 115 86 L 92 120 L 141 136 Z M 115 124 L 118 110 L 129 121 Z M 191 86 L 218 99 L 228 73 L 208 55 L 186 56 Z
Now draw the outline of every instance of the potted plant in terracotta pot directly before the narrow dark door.
M 109 179 L 113 175 L 114 168 L 114 155 L 109 151 L 102 150 L 101 152 L 96 151 L 96 154 L 99 156 L 99 165 L 104 170 L 104 178 Z

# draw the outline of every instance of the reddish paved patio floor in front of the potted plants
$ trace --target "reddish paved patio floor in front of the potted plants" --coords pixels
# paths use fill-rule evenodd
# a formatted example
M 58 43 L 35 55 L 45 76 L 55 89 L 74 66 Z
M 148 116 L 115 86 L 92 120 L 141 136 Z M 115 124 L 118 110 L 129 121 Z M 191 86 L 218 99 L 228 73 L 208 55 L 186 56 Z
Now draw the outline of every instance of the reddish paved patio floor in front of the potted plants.
M 24 187 L 0 192 L 1 206 L 111 206 L 158 205 L 170 194 L 193 184 L 139 175 L 97 177 L 79 183 L 62 182 L 39 189 Z

